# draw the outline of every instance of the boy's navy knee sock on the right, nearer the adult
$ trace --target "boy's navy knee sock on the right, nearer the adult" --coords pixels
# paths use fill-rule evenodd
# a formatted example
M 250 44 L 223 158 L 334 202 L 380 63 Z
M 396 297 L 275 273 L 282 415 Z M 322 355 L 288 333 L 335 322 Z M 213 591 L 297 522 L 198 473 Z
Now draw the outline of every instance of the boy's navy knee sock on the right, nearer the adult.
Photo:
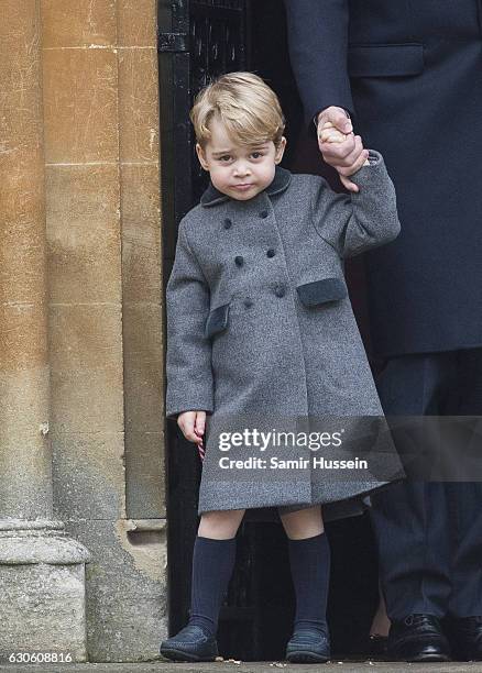
M 325 532 L 305 540 L 288 538 L 289 565 L 296 594 L 295 630 L 313 628 L 325 633 L 330 578 L 330 545 Z

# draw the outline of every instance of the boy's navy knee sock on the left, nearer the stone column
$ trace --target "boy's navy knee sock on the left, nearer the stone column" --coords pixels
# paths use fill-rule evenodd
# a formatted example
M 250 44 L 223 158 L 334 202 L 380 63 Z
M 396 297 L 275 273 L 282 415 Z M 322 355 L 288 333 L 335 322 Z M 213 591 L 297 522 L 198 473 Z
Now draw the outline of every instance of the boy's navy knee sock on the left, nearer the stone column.
M 235 560 L 235 537 L 215 540 L 196 536 L 193 554 L 189 625 L 216 635 L 222 599 Z

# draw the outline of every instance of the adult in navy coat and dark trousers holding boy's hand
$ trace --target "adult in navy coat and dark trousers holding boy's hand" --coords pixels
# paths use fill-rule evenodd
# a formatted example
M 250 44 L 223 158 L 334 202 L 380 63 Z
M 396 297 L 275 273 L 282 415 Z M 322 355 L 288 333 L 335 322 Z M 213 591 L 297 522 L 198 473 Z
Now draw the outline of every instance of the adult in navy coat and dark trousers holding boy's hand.
M 325 161 L 355 190 L 343 173 L 363 139 L 397 190 L 402 233 L 365 255 L 385 413 L 480 416 L 482 0 L 285 5 L 306 123 L 347 134 L 319 141 Z M 481 486 L 406 481 L 374 498 L 393 658 L 482 660 Z

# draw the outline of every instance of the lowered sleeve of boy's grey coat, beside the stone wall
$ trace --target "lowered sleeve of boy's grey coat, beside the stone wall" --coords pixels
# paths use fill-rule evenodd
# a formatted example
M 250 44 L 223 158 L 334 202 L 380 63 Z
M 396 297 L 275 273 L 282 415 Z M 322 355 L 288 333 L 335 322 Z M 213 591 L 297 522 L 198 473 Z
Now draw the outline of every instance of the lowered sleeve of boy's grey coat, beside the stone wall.
M 182 221 L 166 287 L 167 418 L 189 410 L 212 411 L 211 344 L 204 335 L 209 302 L 209 286 Z

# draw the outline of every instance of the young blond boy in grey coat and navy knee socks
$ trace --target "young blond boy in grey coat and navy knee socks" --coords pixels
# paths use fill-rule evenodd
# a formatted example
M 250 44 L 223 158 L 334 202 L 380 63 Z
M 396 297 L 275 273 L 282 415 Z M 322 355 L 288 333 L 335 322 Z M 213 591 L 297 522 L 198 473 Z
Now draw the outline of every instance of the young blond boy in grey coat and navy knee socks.
M 253 74 L 231 73 L 204 89 L 191 120 L 210 186 L 180 222 L 167 285 L 166 415 L 177 418 L 189 441 L 200 444 L 205 430 L 208 441 L 189 622 L 161 653 L 215 659 L 244 510 L 277 507 L 296 593 L 286 659 L 325 662 L 330 555 L 324 519 L 337 507 L 360 511 L 360 500 L 382 482 L 314 479 L 310 470 L 288 479 L 266 471 L 224 475 L 212 428 L 240 417 L 383 416 L 343 258 L 398 234 L 395 191 L 373 151 L 360 157 L 351 176 L 360 191 L 351 196 L 335 194 L 320 177 L 281 168 L 283 113 Z M 326 132 L 338 140 L 336 130 Z

